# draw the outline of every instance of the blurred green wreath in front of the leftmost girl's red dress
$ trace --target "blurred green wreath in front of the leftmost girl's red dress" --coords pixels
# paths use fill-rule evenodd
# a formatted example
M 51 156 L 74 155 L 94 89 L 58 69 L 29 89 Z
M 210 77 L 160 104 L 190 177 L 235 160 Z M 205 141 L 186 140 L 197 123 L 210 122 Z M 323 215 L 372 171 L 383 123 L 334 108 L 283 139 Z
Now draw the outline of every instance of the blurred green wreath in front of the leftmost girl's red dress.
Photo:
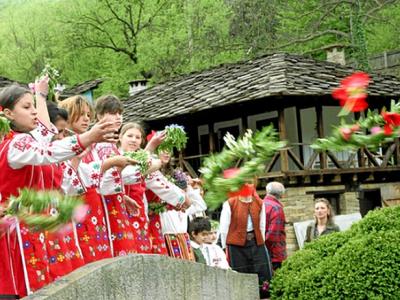
M 19 196 L 11 196 L 6 215 L 15 216 L 29 227 L 55 231 L 71 222 L 75 209 L 82 205 L 78 197 L 64 196 L 58 191 L 20 190 Z M 54 210 L 55 213 L 50 213 Z

